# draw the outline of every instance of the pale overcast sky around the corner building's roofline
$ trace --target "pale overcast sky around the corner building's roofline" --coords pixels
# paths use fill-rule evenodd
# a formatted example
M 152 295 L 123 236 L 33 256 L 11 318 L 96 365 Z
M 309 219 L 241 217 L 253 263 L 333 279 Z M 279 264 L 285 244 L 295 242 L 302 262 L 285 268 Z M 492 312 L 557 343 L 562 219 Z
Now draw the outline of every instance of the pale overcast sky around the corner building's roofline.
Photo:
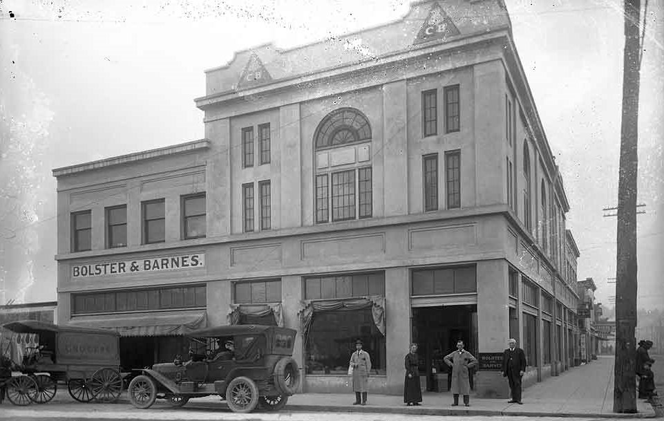
M 444 7 L 445 1 L 441 5 Z M 204 136 L 203 71 L 399 19 L 402 0 L 0 0 L 0 304 L 55 301 L 66 165 Z M 623 75 L 621 0 L 506 0 L 580 249 L 611 305 Z M 14 17 L 10 17 L 10 11 Z M 649 1 L 638 139 L 638 305 L 663 308 L 664 2 Z

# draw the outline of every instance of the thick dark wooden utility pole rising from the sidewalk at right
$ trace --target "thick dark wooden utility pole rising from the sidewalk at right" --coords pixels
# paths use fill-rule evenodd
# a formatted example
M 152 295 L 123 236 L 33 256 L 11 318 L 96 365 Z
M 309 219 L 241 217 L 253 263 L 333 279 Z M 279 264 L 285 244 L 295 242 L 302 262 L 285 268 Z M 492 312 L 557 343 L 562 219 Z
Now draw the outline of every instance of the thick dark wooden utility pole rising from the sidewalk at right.
M 625 0 L 623 117 L 620 125 L 616 254 L 614 412 L 636 413 L 636 175 L 641 1 Z

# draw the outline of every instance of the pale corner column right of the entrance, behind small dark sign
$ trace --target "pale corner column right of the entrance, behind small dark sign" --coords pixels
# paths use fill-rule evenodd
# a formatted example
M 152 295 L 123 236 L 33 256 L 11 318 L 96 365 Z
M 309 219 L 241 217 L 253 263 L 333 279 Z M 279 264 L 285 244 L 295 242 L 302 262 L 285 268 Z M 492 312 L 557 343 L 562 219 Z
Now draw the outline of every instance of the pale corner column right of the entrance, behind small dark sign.
M 508 265 L 503 260 L 477 262 L 477 333 L 479 353 L 502 353 L 509 339 Z M 477 355 L 477 358 L 480 358 Z M 480 397 L 509 397 L 500 371 L 478 371 L 475 393 Z

